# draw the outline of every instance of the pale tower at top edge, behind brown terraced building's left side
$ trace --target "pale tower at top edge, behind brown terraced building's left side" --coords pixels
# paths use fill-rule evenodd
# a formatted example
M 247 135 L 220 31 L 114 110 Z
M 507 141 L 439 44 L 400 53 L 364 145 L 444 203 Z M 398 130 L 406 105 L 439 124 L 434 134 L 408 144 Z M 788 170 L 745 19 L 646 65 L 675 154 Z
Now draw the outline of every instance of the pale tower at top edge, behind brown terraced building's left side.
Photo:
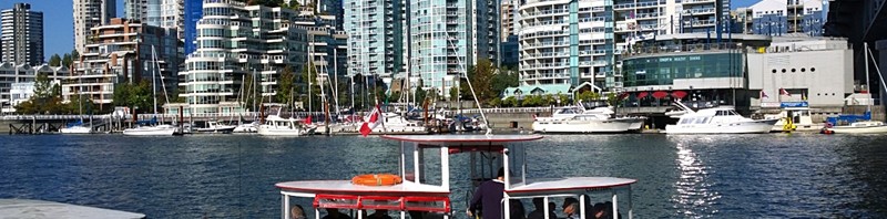
M 73 0 L 74 1 L 74 49 L 83 53 L 90 29 L 111 21 L 118 14 L 116 0 Z

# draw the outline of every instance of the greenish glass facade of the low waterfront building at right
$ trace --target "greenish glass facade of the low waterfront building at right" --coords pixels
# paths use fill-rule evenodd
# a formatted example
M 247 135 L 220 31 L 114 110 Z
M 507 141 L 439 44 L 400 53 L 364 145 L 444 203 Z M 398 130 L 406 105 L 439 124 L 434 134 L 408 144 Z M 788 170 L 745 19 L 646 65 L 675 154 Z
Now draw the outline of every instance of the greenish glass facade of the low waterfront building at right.
M 625 86 L 672 85 L 675 79 L 742 77 L 741 52 L 630 58 L 623 61 Z

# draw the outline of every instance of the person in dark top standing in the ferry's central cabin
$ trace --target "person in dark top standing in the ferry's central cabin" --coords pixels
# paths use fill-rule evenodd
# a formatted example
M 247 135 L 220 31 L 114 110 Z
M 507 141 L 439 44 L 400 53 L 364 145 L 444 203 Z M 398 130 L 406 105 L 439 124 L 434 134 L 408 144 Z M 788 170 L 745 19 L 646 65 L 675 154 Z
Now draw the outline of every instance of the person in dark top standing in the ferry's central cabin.
M 475 211 L 481 209 L 483 219 L 502 219 L 502 197 L 506 190 L 506 170 L 499 168 L 496 179 L 485 181 L 478 186 L 471 202 L 468 205 L 468 217 L 475 217 Z M 482 207 L 482 208 L 481 208 Z

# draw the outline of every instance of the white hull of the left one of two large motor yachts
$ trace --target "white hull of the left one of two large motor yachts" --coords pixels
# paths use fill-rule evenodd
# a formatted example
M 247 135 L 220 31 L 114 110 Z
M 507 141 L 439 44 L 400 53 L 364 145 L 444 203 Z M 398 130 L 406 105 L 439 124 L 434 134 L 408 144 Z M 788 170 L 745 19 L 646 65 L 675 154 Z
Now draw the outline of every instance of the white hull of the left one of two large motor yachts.
M 533 122 L 537 133 L 622 133 L 628 132 L 631 119 L 543 119 Z

